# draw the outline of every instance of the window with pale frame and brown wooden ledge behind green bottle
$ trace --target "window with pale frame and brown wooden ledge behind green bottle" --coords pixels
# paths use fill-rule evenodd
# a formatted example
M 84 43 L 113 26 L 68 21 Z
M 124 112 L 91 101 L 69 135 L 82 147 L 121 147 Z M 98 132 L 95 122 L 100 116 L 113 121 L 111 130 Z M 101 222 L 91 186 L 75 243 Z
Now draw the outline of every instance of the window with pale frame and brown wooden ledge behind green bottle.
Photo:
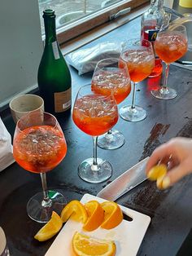
M 110 20 L 110 16 L 131 7 L 133 10 L 149 0 L 39 0 L 41 31 L 44 34 L 43 10 L 55 10 L 59 43 Z

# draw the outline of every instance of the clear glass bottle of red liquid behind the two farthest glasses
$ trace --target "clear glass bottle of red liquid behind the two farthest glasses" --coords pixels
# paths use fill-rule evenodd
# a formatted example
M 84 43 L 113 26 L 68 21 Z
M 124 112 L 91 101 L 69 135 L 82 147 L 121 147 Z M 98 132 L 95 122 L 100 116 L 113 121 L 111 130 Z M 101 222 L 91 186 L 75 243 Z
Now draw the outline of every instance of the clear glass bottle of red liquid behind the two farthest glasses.
M 168 18 L 163 8 L 164 0 L 151 0 L 151 7 L 142 14 L 141 40 L 146 39 L 155 42 L 157 33 L 163 24 L 167 24 Z M 158 77 L 163 72 L 162 60 L 155 55 L 155 67 L 149 77 Z

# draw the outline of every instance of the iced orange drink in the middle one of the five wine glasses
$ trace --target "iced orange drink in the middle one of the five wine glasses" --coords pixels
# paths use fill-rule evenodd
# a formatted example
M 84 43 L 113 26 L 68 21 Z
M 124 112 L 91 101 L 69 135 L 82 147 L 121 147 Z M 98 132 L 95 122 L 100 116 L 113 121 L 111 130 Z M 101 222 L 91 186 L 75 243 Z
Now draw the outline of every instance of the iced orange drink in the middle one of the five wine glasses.
M 91 88 L 96 94 L 110 95 L 113 91 L 116 104 L 120 104 L 131 92 L 131 82 L 123 69 L 109 71 L 98 71 L 94 73 Z

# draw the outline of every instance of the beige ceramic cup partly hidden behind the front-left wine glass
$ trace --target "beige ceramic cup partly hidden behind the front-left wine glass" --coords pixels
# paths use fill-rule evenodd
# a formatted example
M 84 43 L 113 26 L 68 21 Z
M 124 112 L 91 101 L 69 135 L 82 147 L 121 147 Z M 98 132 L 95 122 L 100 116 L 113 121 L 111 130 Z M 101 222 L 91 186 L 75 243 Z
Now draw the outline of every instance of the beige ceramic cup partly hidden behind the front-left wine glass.
M 9 104 L 15 123 L 25 114 L 32 111 L 44 111 L 44 100 L 38 95 L 19 95 Z

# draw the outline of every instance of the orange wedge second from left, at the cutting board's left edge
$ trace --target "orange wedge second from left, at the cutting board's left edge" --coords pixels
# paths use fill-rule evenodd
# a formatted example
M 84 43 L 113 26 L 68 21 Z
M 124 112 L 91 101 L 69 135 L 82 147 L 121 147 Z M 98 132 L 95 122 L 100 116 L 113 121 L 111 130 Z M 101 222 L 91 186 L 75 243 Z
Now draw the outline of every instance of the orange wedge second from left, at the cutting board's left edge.
M 77 222 L 85 223 L 88 215 L 84 205 L 80 201 L 73 200 L 66 205 L 61 212 L 61 219 L 65 223 L 68 218 Z

